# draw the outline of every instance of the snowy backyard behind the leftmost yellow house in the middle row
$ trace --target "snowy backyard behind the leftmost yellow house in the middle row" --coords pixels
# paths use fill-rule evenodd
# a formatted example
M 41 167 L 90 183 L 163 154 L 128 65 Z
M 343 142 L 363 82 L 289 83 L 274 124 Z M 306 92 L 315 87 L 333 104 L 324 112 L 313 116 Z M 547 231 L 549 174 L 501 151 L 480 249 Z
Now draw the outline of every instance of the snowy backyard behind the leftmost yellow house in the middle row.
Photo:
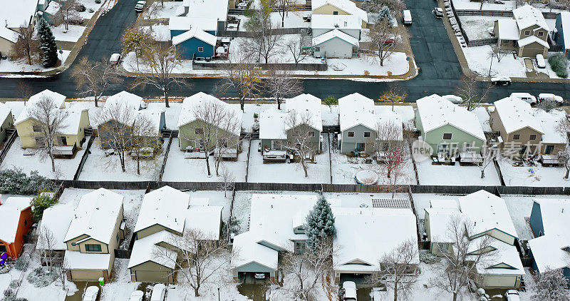
M 73 180 L 73 175 L 76 174 L 83 153 L 85 153 L 85 148 L 77 151 L 75 157 L 71 159 L 56 158 L 56 172 L 53 173 L 51 171 L 50 158 L 40 153 L 24 155 L 24 148 L 21 147 L 21 141 L 18 137 L 10 147 L 6 158 L 2 161 L 0 169 L 21 168 L 21 170 L 28 175 L 31 171 L 38 170 L 40 175 L 47 178 Z

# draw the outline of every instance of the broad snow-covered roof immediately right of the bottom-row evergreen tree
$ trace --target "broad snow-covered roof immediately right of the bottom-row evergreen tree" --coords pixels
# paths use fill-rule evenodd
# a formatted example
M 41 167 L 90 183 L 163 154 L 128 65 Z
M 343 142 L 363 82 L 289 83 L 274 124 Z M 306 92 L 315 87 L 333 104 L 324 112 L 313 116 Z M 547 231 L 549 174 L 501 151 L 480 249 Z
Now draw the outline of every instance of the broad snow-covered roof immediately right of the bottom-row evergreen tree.
M 336 228 L 334 245 L 338 245 L 333 255 L 336 270 L 351 270 L 356 262 L 377 267 L 384 254 L 406 240 L 418 239 L 415 215 L 410 209 L 333 207 L 332 211 Z M 416 257 L 415 263 L 419 262 Z

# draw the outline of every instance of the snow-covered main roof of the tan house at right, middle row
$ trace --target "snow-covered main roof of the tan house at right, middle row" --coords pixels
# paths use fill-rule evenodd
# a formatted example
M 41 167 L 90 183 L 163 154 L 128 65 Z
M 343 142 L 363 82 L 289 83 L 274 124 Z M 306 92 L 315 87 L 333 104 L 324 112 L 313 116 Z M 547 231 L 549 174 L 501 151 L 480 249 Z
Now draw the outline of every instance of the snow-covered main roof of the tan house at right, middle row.
M 534 131 L 544 133 L 539 120 L 533 116 L 529 103 L 519 98 L 505 97 L 495 101 L 494 108 L 501 119 L 504 131 L 512 133 L 522 128 L 532 128 Z

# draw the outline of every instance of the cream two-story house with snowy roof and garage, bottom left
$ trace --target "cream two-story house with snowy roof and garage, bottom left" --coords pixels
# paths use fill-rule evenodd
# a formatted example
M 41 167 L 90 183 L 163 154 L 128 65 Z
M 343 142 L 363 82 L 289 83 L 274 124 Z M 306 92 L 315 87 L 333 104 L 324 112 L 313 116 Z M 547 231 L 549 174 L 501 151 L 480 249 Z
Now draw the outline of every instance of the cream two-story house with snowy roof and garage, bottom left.
M 63 238 L 68 280 L 108 281 L 124 235 L 123 195 L 105 188 L 83 195 Z

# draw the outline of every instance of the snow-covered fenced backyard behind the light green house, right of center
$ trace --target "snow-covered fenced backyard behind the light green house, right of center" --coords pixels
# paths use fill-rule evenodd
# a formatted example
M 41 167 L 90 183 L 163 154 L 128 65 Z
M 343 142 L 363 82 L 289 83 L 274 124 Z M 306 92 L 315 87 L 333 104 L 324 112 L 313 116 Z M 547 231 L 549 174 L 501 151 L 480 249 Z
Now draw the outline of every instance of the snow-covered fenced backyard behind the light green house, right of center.
M 485 177 L 476 165 L 432 165 L 431 160 L 416 162 L 420 185 L 501 185 L 492 164 L 485 168 Z

